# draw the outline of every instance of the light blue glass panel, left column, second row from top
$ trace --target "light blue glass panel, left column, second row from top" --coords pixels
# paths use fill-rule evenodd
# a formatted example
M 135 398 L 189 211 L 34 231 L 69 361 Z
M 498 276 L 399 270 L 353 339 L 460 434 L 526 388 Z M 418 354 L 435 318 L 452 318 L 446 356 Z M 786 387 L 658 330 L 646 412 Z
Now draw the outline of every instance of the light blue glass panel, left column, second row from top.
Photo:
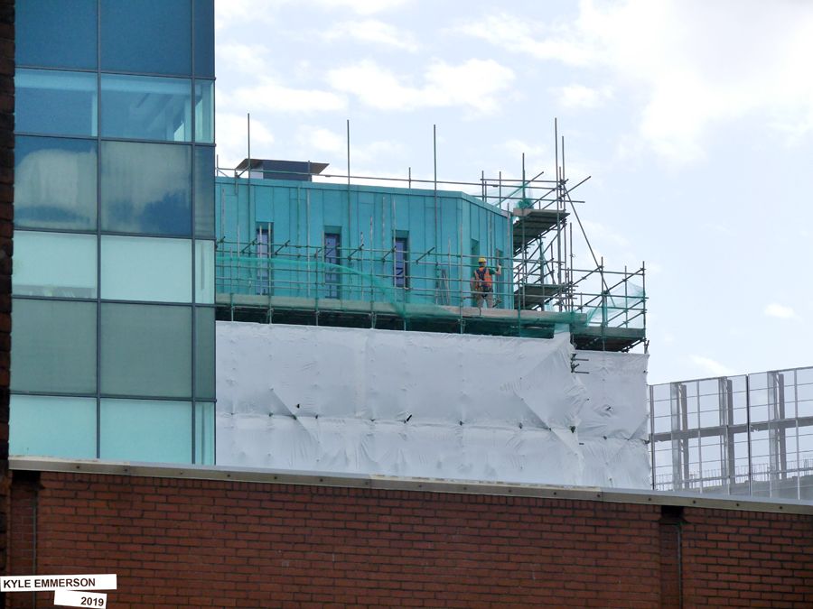
M 14 88 L 18 133 L 96 135 L 96 74 L 17 69 Z

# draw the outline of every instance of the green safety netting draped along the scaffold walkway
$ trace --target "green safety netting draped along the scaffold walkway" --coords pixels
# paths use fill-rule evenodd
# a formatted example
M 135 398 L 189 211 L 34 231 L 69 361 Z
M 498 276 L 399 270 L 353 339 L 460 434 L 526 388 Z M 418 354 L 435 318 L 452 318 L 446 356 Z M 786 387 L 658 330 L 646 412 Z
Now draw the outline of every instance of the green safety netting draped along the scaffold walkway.
M 397 277 L 391 263 L 363 257 L 334 264 L 313 257 L 218 252 L 216 261 L 218 293 L 248 305 L 254 302 L 276 309 L 375 312 L 404 320 L 452 320 L 476 306 L 472 267 L 460 263 L 410 263 L 408 277 L 404 278 Z M 542 311 L 515 309 L 513 290 L 510 280 L 497 278 L 493 299 L 500 312 L 494 311 L 483 319 L 521 328 L 643 328 L 645 294 L 631 281 L 621 281 L 611 291 L 571 295 L 561 307 L 564 310 L 559 310 L 558 302 L 553 300 Z

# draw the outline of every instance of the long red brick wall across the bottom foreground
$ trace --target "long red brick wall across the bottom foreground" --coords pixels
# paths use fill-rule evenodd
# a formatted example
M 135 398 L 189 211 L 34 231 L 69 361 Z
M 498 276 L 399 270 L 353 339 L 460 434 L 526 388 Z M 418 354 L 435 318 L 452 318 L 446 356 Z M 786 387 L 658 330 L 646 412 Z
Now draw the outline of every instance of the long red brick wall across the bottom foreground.
M 116 607 L 813 604 L 813 516 L 47 472 L 34 508 L 22 483 L 37 572 L 117 573 Z

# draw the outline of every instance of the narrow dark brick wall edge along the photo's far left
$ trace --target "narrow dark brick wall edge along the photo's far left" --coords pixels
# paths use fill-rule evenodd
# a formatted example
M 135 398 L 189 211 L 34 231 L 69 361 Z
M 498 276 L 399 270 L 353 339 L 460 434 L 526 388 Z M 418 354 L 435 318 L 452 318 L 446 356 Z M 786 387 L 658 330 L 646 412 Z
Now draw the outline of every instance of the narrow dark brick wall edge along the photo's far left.
M 14 0 L 0 0 L 0 573 L 8 525 L 8 374 L 14 222 Z M 0 604 L 4 602 L 0 592 Z

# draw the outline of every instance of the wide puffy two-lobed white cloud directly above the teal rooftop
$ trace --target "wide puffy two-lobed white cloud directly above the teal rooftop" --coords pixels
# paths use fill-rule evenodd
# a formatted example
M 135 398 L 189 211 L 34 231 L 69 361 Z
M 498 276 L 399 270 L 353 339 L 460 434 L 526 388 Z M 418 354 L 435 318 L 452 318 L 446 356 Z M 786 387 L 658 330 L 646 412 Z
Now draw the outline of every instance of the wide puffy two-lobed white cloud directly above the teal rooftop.
M 478 115 L 499 109 L 497 94 L 513 79 L 514 72 L 494 60 L 467 60 L 459 65 L 437 60 L 426 69 L 425 83 L 418 87 L 402 83 L 397 75 L 370 60 L 333 69 L 328 75 L 333 88 L 378 109 L 459 106 Z

